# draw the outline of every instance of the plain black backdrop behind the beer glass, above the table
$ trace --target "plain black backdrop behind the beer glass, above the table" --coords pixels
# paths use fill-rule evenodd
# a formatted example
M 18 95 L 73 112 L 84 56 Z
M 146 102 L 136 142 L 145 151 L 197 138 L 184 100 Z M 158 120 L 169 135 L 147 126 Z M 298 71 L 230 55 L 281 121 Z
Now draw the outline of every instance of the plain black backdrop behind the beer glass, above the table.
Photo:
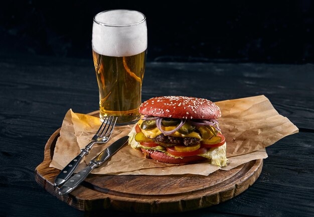
M 93 15 L 135 9 L 147 18 L 148 61 L 313 62 L 313 2 L 6 0 L 0 54 L 91 58 Z

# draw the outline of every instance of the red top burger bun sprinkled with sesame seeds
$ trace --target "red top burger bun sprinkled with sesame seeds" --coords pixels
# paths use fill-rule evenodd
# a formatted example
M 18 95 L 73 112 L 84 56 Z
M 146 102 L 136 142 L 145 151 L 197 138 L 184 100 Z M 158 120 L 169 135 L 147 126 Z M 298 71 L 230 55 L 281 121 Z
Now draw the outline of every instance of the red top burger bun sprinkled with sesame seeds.
M 214 119 L 221 117 L 220 108 L 205 98 L 159 96 L 144 101 L 139 112 L 143 115 L 179 119 Z

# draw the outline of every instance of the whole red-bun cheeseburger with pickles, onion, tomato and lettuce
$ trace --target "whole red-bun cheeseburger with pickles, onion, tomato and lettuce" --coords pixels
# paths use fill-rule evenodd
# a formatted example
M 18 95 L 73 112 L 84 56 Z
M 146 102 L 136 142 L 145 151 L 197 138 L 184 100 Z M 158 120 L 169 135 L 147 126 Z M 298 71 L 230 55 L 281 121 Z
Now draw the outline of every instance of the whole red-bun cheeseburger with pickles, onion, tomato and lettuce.
M 144 101 L 129 144 L 146 158 L 183 164 L 208 160 L 226 166 L 226 141 L 217 118 L 220 108 L 204 98 L 160 96 Z

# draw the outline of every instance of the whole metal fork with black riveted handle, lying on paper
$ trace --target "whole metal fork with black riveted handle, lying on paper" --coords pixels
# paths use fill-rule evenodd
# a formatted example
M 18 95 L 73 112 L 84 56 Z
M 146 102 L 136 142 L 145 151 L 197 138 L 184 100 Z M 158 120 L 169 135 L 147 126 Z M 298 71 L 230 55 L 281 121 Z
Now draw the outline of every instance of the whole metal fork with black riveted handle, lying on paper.
M 81 152 L 74 159 L 72 159 L 68 165 L 66 165 L 57 175 L 54 186 L 60 186 L 66 182 L 66 180 L 73 174 L 83 157 L 89 153 L 90 149 L 95 143 L 106 143 L 109 140 L 116 120 L 117 117 L 106 116 L 98 131 L 92 137 L 91 141 L 85 146 L 84 149 L 81 149 Z

